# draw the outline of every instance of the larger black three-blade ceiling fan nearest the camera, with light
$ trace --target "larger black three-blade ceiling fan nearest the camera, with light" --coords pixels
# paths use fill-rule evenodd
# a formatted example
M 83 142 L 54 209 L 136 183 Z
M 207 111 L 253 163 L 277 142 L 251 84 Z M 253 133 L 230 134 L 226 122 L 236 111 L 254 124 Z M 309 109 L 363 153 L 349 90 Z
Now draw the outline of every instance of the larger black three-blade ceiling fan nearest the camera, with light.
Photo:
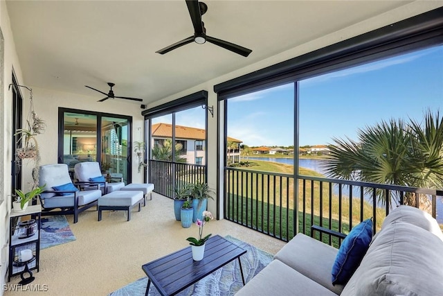
M 174 49 L 178 49 L 180 46 L 186 45 L 191 42 L 195 42 L 197 44 L 204 44 L 206 41 L 217 46 L 221 46 L 224 49 L 228 49 L 228 51 L 233 51 L 238 53 L 239 55 L 243 55 L 247 57 L 249 53 L 251 53 L 251 49 L 246 49 L 243 46 L 239 46 L 237 44 L 233 44 L 224 40 L 220 40 L 214 37 L 210 37 L 206 35 L 206 28 L 204 22 L 201 21 L 201 16 L 205 14 L 208 10 L 208 6 L 206 3 L 199 2 L 197 0 L 186 0 L 186 5 L 188 6 L 189 15 L 192 20 L 192 25 L 194 26 L 194 35 L 190 36 L 186 39 L 183 39 L 177 43 L 174 43 L 170 46 L 165 47 L 156 53 L 165 54 Z

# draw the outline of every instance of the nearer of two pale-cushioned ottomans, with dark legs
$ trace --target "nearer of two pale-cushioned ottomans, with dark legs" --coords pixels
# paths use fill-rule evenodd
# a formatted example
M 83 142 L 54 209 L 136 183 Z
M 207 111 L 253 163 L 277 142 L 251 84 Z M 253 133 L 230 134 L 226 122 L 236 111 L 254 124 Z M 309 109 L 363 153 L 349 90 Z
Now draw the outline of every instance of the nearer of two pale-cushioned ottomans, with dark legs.
M 131 209 L 138 204 L 141 211 L 141 202 L 144 200 L 143 191 L 112 191 L 98 198 L 98 220 L 102 220 L 102 211 L 127 211 L 127 220 L 131 220 Z

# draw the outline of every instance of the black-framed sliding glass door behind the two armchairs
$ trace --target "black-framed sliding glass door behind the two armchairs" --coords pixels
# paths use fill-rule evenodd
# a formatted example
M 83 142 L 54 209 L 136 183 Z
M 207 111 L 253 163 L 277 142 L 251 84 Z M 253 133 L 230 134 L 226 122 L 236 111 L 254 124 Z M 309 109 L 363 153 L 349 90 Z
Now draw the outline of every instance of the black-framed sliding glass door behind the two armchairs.
M 71 177 L 75 164 L 98 162 L 103 174 L 131 182 L 131 117 L 60 108 L 59 119 L 58 162 Z

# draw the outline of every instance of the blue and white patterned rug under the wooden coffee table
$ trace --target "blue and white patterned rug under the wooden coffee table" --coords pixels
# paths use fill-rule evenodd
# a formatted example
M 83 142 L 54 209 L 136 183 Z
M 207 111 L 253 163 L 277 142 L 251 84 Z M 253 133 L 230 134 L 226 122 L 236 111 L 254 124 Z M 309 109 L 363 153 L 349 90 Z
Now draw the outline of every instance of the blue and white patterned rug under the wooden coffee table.
M 244 273 L 244 280 L 246 283 L 250 281 L 260 270 L 268 265 L 273 258 L 273 255 L 260 250 L 253 245 L 240 241 L 233 236 L 225 237 L 228 241 L 235 243 L 239 247 L 248 251 L 246 254 L 240 256 L 242 261 L 242 268 Z M 123 288 L 115 290 L 109 295 L 123 296 L 123 295 L 145 295 L 147 286 L 147 277 L 138 279 Z M 206 295 L 234 295 L 237 291 L 243 287 L 242 274 L 239 270 L 239 264 L 237 260 L 234 260 L 219 270 L 208 275 L 204 279 L 201 279 L 196 284 L 181 291 L 179 296 L 206 296 Z M 160 295 L 159 291 L 155 288 L 154 284 L 150 286 L 150 296 Z

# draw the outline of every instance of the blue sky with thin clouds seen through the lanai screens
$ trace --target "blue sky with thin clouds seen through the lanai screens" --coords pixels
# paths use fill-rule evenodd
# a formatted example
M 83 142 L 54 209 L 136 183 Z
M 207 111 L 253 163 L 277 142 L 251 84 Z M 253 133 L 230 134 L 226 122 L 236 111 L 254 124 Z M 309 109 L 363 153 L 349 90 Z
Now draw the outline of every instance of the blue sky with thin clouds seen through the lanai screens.
M 443 113 L 443 46 L 300 81 L 300 146 L 356 140 L 382 120 Z M 205 128 L 206 110 L 178 112 L 177 125 Z M 248 146 L 293 145 L 293 84 L 228 99 L 228 135 Z M 172 122 L 172 116 L 153 121 Z

